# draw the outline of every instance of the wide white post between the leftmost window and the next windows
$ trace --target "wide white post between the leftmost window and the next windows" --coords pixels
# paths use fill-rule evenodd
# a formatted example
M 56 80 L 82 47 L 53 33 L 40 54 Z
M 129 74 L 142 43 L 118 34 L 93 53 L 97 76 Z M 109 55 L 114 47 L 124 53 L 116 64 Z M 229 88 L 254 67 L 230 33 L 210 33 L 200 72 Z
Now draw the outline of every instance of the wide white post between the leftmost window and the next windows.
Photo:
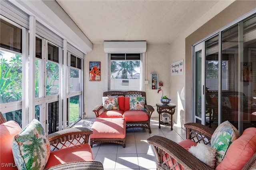
M 31 122 L 35 118 L 35 54 L 36 54 L 36 18 L 29 18 L 29 111 L 28 121 Z

